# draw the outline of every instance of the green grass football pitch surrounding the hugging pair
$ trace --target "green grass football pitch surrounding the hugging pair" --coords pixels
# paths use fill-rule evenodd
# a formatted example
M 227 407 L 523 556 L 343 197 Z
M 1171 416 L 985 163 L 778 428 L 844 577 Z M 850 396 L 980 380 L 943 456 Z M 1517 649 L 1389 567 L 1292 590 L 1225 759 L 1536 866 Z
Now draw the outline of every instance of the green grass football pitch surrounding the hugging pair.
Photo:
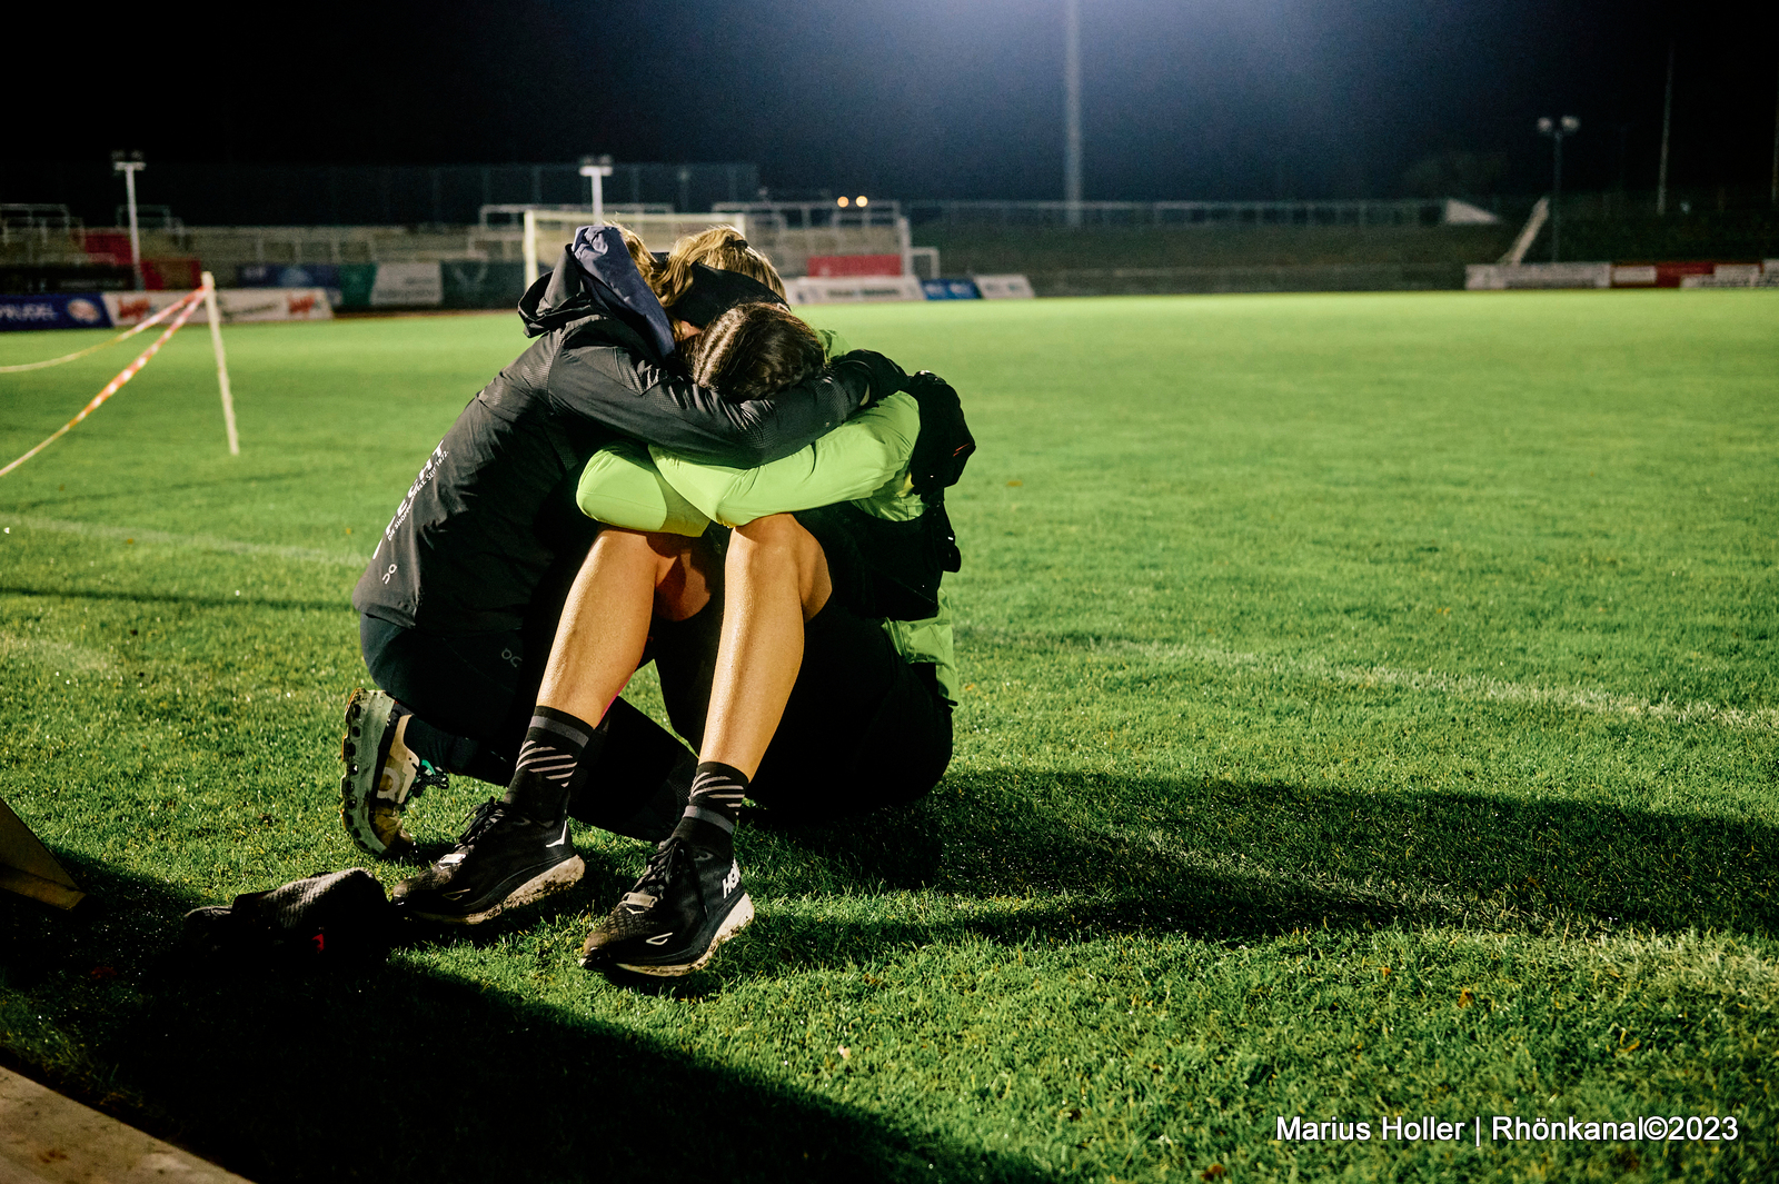
M 642 857 L 591 830 L 573 894 L 370 971 L 176 953 L 361 862 L 347 596 L 516 318 L 231 329 L 238 459 L 189 331 L 0 478 L 0 796 L 94 894 L 0 900 L 5 1060 L 262 1184 L 1779 1179 L 1779 293 L 815 318 L 982 444 L 957 756 L 745 832 L 758 921 L 660 994 L 576 965 Z M 126 357 L 0 379 L 0 462 Z M 1421 1115 L 1482 1147 L 1382 1138 Z

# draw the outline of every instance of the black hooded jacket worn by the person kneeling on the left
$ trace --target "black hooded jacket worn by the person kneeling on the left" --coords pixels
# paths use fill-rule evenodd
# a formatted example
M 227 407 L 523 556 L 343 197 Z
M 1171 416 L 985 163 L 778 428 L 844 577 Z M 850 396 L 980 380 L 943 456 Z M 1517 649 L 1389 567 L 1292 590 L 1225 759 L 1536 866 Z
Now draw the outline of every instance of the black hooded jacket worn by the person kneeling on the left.
M 662 357 L 658 334 L 612 297 L 630 277 L 635 267 L 621 251 L 564 251 L 532 284 L 519 316 L 537 341 L 432 450 L 352 608 L 439 633 L 518 629 L 550 567 L 578 564 L 598 532 L 575 507 L 575 482 L 603 444 L 630 437 L 756 466 L 797 452 L 865 402 L 868 368 L 845 361 L 770 400 L 724 402 L 692 382 L 678 356 Z

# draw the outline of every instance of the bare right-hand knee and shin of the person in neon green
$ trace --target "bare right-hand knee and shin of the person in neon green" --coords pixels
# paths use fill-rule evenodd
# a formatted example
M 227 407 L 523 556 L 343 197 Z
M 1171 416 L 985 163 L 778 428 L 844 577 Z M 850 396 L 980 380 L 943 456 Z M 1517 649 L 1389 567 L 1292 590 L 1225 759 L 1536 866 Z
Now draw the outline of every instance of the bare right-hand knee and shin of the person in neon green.
M 772 514 L 729 537 L 724 587 L 717 677 L 697 756 L 753 777 L 802 667 L 802 626 L 834 585 L 815 535 L 790 514 Z

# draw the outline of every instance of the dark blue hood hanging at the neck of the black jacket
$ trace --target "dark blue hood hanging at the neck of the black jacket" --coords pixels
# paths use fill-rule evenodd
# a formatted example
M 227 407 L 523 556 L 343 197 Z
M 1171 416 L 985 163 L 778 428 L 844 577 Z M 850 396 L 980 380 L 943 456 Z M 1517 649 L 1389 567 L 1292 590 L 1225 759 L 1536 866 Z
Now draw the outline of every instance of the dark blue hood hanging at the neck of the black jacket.
M 630 327 L 665 361 L 674 352 L 672 325 L 648 281 L 624 247 L 616 226 L 582 226 L 557 260 L 519 300 L 525 336 L 541 338 L 596 316 L 612 316 Z

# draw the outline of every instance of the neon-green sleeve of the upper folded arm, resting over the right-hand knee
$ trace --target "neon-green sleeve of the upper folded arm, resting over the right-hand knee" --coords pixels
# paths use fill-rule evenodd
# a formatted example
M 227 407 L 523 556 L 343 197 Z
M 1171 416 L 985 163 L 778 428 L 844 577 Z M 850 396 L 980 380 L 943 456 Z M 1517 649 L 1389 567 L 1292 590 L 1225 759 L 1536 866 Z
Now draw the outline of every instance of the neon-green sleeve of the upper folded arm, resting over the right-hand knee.
M 891 395 L 802 452 L 760 468 L 699 464 L 665 448 L 649 448 L 649 455 L 662 480 L 701 514 L 724 526 L 745 526 L 767 514 L 813 510 L 904 484 L 916 436 L 914 396 Z

